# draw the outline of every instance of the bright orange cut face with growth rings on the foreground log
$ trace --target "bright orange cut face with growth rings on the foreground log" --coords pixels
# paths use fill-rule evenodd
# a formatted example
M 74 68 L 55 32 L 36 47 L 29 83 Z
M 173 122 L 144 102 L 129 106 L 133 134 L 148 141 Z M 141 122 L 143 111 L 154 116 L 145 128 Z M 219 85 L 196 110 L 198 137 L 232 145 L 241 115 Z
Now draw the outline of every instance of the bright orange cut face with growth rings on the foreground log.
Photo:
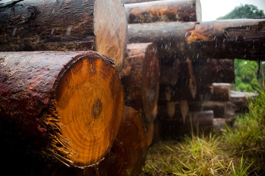
M 109 64 L 101 59 L 81 60 L 62 77 L 55 91 L 58 116 L 64 126 L 61 134 L 70 139 L 76 153 L 69 153 L 67 158 L 75 166 L 97 163 L 117 135 L 122 86 L 115 70 L 107 67 Z M 112 93 L 114 90 L 117 94 Z

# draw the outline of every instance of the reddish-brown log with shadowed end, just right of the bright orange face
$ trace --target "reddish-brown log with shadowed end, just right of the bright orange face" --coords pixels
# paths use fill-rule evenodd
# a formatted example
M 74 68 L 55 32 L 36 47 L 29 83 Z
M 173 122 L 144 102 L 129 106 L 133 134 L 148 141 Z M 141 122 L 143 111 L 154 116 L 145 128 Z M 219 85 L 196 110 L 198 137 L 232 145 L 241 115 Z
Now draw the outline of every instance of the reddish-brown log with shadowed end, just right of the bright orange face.
M 143 114 L 152 123 L 157 115 L 159 93 L 158 53 L 153 43 L 132 43 L 127 46 L 127 58 L 121 71 L 125 90 L 125 105 Z

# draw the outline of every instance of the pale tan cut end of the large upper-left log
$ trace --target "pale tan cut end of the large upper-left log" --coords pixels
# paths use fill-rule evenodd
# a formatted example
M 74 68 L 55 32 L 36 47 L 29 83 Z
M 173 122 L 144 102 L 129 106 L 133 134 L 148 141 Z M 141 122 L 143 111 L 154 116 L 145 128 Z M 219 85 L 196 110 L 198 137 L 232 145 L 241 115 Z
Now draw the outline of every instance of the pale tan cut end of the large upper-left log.
M 127 18 L 123 5 L 120 1 L 99 0 L 94 14 L 97 52 L 110 56 L 115 69 L 121 71 L 127 44 Z

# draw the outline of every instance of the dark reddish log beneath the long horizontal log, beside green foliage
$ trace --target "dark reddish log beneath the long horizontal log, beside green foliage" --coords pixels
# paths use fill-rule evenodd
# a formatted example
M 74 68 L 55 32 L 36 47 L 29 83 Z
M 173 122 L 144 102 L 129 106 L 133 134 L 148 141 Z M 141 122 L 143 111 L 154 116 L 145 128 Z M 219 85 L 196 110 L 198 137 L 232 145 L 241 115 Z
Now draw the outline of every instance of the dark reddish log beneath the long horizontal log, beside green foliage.
M 233 59 L 194 60 L 193 73 L 197 83 L 235 83 Z

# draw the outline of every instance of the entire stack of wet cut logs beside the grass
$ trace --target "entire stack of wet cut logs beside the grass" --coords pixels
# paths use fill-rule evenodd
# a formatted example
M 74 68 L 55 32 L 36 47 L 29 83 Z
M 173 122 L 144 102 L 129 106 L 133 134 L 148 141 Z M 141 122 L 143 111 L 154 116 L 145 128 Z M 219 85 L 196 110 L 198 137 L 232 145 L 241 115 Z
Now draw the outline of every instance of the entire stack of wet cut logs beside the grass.
M 265 58 L 265 20 L 201 13 L 199 0 L 0 4 L 6 168 L 138 175 L 159 137 L 232 124 L 255 96 L 231 92 L 233 59 Z

